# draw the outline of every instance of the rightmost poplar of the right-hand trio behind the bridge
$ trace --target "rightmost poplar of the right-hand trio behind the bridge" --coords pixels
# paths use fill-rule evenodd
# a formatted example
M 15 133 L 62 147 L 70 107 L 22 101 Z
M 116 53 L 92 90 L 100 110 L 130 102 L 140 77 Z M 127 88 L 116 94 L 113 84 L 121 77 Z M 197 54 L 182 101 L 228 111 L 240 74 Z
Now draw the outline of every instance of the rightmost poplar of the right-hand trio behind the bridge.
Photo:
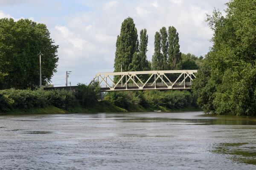
M 180 45 L 179 45 L 179 34 L 176 28 L 169 26 L 168 28 L 168 65 L 169 69 L 174 70 L 176 64 L 181 59 Z

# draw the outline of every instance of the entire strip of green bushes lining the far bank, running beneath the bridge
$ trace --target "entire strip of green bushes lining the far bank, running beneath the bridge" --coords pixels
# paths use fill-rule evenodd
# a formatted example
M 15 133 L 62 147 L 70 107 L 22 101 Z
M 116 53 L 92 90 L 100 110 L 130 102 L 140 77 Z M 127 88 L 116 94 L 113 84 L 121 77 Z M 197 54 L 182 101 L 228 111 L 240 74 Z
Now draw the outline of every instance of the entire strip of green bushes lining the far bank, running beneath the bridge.
M 98 84 L 79 84 L 75 92 L 6 89 L 0 113 L 90 113 L 198 110 L 188 91 L 119 91 L 100 93 Z

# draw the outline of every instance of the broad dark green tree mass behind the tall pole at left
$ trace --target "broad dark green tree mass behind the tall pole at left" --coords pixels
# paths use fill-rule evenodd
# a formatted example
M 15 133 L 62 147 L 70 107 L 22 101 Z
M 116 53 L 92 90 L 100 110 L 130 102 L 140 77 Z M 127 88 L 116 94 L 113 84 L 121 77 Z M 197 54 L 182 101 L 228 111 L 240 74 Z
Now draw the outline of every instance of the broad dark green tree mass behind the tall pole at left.
M 42 57 L 42 84 L 57 68 L 57 49 L 46 25 L 32 20 L 0 19 L 0 71 L 5 73 L 0 88 L 35 88 L 39 85 L 39 57 Z

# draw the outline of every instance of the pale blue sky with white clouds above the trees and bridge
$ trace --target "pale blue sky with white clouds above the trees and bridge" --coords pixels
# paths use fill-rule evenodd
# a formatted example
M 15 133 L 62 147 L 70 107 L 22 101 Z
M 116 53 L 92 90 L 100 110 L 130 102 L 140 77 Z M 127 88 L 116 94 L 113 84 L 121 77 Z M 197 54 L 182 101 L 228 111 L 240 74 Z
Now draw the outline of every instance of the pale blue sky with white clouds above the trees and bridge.
M 154 34 L 165 26 L 179 33 L 180 51 L 204 56 L 212 45 L 205 22 L 227 0 L 0 0 L 0 18 L 29 18 L 44 23 L 59 45 L 58 68 L 52 84 L 63 86 L 66 71 L 71 85 L 89 84 L 97 72 L 112 72 L 116 37 L 122 21 L 134 19 L 138 32 L 148 33 L 147 58 L 154 53 Z M 47 57 L 47 56 L 43 56 Z

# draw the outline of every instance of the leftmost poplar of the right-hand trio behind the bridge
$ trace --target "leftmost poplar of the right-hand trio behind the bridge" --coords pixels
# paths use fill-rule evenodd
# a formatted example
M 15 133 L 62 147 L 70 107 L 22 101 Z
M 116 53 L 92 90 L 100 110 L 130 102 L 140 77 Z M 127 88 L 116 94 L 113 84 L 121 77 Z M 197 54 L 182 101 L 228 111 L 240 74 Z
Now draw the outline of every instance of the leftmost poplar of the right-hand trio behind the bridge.
M 161 53 L 161 34 L 156 32 L 154 40 L 154 54 L 152 57 L 152 69 L 161 70 L 163 66 L 163 54 Z

